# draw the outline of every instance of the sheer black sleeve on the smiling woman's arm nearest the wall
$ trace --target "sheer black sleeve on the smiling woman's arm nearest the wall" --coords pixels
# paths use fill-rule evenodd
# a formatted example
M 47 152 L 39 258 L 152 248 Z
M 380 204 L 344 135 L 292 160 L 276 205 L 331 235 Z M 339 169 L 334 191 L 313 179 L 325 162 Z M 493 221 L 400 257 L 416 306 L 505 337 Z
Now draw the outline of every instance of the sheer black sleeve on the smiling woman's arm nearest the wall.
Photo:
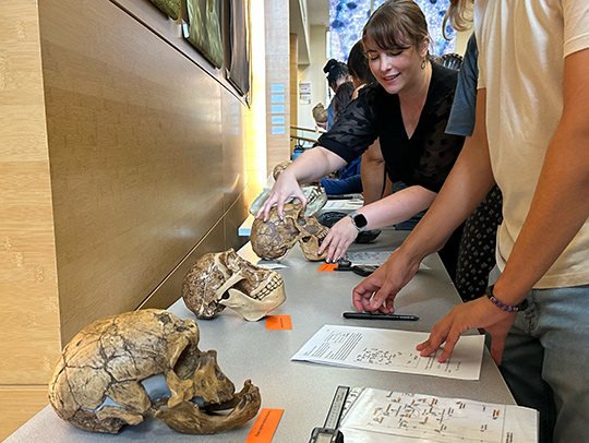
M 371 89 L 366 86 L 360 91 L 358 98 L 348 105 L 332 129 L 320 136 L 315 146 L 323 146 L 350 163 L 374 143 L 378 134 Z

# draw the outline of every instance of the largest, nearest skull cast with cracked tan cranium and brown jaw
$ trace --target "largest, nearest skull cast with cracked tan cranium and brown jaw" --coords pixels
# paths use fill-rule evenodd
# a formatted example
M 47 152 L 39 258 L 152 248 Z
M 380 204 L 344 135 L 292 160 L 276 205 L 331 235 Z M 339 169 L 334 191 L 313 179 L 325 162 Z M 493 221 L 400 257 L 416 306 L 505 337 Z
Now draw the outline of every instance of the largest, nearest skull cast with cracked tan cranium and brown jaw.
M 63 420 L 91 432 L 117 433 L 155 416 L 175 431 L 211 434 L 253 418 L 259 388 L 248 380 L 236 394 L 217 352 L 197 345 L 196 323 L 168 311 L 97 320 L 63 348 L 49 402 Z M 225 416 L 207 414 L 229 408 Z

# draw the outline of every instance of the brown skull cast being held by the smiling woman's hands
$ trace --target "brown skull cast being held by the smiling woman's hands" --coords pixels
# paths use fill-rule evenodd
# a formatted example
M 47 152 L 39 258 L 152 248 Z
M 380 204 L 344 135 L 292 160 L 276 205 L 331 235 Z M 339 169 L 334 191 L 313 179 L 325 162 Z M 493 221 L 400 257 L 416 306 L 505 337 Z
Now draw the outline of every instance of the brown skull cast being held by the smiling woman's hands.
M 306 260 L 324 260 L 327 251 L 321 255 L 317 251 L 329 229 L 321 225 L 315 217 L 306 217 L 301 213 L 300 203 L 287 203 L 283 219 L 278 216 L 276 206 L 271 209 L 266 222 L 255 219 L 250 240 L 256 255 L 264 260 L 280 259 L 299 242 Z

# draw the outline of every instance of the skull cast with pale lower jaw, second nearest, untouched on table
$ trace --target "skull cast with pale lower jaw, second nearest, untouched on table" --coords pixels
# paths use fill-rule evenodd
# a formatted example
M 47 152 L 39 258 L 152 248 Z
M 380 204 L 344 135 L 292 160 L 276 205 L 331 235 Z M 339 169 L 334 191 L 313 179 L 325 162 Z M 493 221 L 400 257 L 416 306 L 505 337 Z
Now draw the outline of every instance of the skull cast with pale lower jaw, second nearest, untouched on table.
M 197 319 L 212 319 L 227 307 L 254 322 L 278 308 L 286 294 L 280 274 L 230 249 L 199 259 L 184 276 L 182 297 Z

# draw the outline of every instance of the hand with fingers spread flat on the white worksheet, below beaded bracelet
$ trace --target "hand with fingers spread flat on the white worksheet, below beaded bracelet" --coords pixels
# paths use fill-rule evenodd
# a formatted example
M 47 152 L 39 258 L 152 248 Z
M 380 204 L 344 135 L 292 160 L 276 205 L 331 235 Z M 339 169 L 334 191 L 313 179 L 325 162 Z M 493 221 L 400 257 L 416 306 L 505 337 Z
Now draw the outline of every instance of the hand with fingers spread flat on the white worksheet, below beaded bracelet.
M 515 312 L 502 311 L 486 297 L 458 304 L 434 325 L 428 340 L 418 345 L 417 350 L 421 351 L 422 357 L 428 357 L 445 342 L 444 351 L 438 359 L 443 363 L 449 358 L 460 335 L 468 330 L 482 327 L 491 334 L 491 357 L 500 364 L 505 338 L 516 316 Z

